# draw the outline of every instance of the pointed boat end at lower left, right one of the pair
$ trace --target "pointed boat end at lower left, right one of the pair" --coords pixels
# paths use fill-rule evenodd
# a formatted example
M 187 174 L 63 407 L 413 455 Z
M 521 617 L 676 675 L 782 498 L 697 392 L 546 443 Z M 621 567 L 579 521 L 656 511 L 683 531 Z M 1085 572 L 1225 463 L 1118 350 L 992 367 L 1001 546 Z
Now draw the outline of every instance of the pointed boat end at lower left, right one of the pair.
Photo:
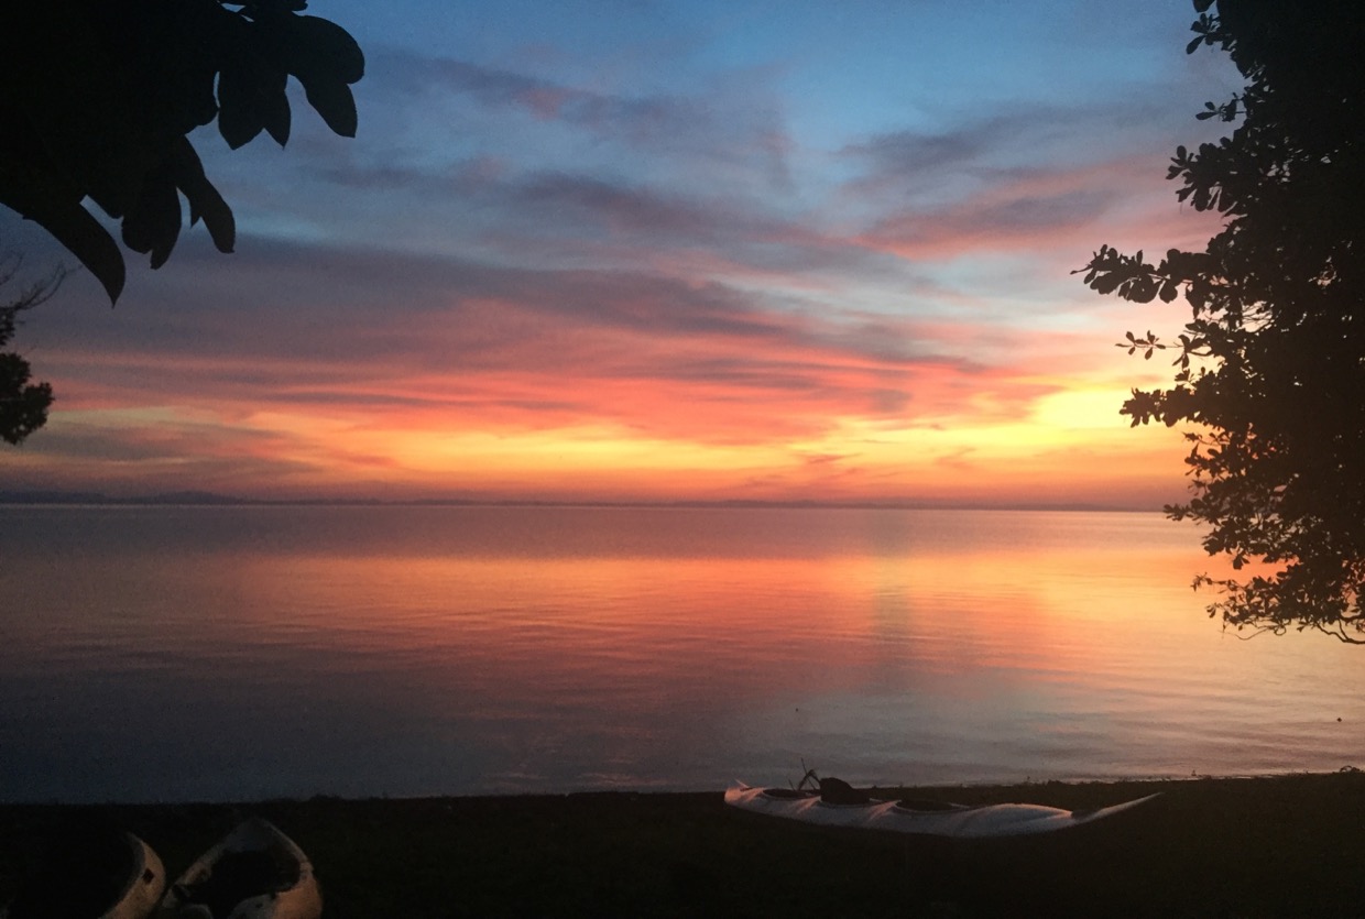
M 269 821 L 251 818 L 167 890 L 156 919 L 318 919 L 313 863 Z

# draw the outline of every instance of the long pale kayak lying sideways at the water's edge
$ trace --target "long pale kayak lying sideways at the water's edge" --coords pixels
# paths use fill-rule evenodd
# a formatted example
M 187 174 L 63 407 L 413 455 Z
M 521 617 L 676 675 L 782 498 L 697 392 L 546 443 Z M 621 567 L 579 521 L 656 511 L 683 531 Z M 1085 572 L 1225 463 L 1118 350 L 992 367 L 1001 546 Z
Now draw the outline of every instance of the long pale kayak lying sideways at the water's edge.
M 842 782 L 839 785 L 848 788 Z M 1066 811 L 1043 804 L 983 804 L 973 807 L 938 802 L 894 802 L 865 795 L 822 795 L 819 791 L 807 789 L 751 788 L 744 782 L 737 782 L 725 792 L 726 804 L 755 814 L 785 817 L 819 826 L 890 830 L 958 840 L 1052 833 L 1122 814 L 1153 797 L 1156 795 L 1099 810 Z

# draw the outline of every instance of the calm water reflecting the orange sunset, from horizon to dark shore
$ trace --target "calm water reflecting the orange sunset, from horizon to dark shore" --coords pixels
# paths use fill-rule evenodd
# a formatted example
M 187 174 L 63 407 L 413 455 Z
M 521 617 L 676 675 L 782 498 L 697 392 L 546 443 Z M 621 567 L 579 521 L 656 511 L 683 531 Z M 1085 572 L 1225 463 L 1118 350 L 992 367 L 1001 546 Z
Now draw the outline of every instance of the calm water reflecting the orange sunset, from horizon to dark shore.
M 1365 766 L 1159 515 L 0 508 L 0 799 Z

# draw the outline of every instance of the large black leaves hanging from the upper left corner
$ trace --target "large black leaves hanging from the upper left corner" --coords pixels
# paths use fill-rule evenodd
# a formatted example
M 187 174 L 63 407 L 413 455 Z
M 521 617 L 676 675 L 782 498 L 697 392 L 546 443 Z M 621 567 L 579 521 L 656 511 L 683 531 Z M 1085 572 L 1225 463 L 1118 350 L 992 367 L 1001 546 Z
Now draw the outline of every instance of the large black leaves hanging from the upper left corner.
M 306 0 L 44 0 L 0 19 L 0 203 L 37 221 L 100 280 L 111 302 L 123 255 L 86 210 L 121 221 L 124 244 L 160 268 L 201 218 L 220 251 L 232 210 L 186 137 L 218 119 L 232 149 L 289 138 L 288 78 L 344 137 L 364 56 Z

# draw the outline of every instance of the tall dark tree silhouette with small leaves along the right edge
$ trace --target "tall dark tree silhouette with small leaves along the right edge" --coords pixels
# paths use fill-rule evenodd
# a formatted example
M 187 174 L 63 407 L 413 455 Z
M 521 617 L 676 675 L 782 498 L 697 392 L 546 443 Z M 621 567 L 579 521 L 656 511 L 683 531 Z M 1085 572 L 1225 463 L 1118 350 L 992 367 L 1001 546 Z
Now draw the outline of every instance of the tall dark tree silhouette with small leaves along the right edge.
M 1317 628 L 1365 643 L 1365 4 L 1194 0 L 1188 52 L 1227 52 L 1246 81 L 1197 117 L 1235 123 L 1178 147 L 1177 197 L 1226 217 L 1203 253 L 1102 246 L 1080 269 L 1100 294 L 1183 294 L 1174 385 L 1133 391 L 1133 425 L 1190 423 L 1192 496 L 1167 508 L 1209 524 L 1235 578 L 1209 614 L 1241 630 Z M 1211 12 L 1212 10 L 1212 12 Z M 1077 273 L 1080 273 L 1077 272 Z M 1151 358 L 1151 332 L 1122 347 Z

